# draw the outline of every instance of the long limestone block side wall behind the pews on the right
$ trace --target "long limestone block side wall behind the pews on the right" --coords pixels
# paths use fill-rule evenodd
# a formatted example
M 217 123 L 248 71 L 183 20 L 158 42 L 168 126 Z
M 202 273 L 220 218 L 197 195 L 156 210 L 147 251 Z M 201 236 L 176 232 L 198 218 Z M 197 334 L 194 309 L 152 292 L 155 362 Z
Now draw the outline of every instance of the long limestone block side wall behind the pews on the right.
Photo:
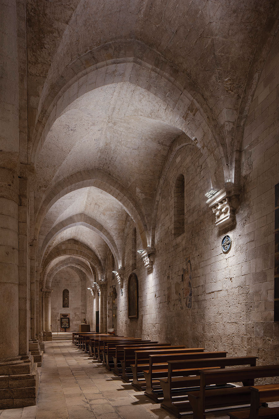
M 169 168 L 156 222 L 152 274 L 141 260 L 139 318 L 127 317 L 129 228 L 118 333 L 171 341 L 229 354 L 253 354 L 259 363 L 277 362 L 278 323 L 273 321 L 274 185 L 279 182 L 278 41 L 271 49 L 249 111 L 242 144 L 242 194 L 232 248 L 205 203 L 210 173 L 195 144 L 180 149 Z M 174 184 L 185 178 L 185 232 L 174 237 Z M 138 241 L 137 248 L 141 247 Z M 138 259 L 140 259 L 138 257 Z M 119 287 L 118 287 L 119 288 Z

